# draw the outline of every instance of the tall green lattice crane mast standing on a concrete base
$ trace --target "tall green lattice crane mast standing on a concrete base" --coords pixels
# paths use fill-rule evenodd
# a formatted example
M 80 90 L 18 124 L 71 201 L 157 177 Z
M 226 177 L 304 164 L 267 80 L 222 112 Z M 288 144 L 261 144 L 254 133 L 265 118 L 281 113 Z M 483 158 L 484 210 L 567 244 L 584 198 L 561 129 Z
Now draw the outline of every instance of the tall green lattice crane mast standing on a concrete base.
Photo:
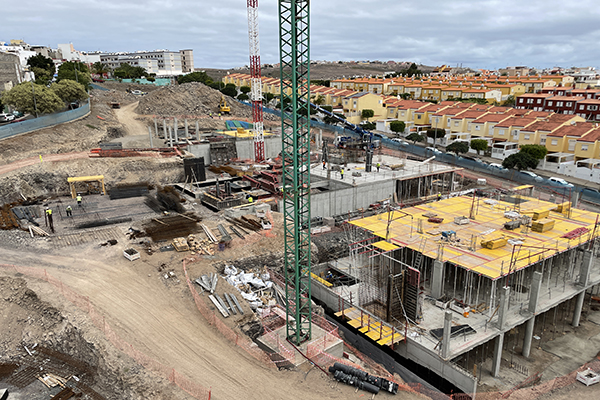
M 279 0 L 286 334 L 296 345 L 312 334 L 309 3 Z

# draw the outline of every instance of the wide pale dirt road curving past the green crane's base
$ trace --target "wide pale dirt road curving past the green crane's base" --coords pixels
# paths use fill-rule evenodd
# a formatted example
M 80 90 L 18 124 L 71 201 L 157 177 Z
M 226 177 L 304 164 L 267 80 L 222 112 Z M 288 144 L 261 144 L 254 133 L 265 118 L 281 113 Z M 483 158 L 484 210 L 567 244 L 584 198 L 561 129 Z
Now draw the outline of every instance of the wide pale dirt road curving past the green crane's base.
M 205 387 L 214 399 L 359 399 L 316 368 L 307 374 L 269 369 L 213 329 L 197 311 L 183 281 L 167 287 L 157 279 L 157 261 L 129 262 L 117 248 L 89 245 L 69 255 L 2 249 L 0 263 L 35 266 L 63 281 L 105 316 L 117 334 L 136 349 Z M 183 276 L 181 255 L 169 265 Z M 57 294 L 57 296 L 59 296 Z M 383 394 L 387 397 L 386 394 Z M 422 398 L 399 394 L 396 398 Z

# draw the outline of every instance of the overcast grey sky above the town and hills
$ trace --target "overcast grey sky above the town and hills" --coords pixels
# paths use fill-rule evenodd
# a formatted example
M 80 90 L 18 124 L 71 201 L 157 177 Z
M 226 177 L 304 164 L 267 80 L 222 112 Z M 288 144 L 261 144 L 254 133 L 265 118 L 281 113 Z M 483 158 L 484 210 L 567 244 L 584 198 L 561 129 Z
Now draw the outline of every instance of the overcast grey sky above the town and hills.
M 259 0 L 263 63 L 279 61 L 277 4 Z M 191 48 L 196 68 L 248 63 L 243 0 L 21 0 L 3 8 L 0 41 L 108 52 Z M 598 0 L 317 0 L 311 59 L 600 67 L 599 10 Z

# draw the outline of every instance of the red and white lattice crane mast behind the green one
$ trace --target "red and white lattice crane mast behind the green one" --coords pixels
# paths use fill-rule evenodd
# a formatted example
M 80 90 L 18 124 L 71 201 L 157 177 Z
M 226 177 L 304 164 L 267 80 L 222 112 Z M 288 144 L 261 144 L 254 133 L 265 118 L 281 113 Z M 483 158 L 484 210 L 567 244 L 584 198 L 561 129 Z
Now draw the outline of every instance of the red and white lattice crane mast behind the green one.
M 265 160 L 263 133 L 262 80 L 260 76 L 260 42 L 258 40 L 258 0 L 248 0 L 248 36 L 250 38 L 250 100 L 254 125 L 254 161 Z

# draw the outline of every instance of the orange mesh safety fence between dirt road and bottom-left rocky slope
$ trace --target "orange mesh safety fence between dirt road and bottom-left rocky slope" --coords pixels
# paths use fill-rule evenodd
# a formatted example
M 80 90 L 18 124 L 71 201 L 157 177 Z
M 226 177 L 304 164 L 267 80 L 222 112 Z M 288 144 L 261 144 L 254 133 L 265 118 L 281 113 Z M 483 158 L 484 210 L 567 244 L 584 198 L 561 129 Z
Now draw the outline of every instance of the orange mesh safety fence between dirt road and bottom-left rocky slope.
M 160 374 L 165 379 L 168 379 L 169 382 L 177 385 L 180 389 L 184 390 L 194 398 L 198 400 L 210 400 L 210 389 L 190 381 L 188 378 L 175 371 L 175 369 L 167 367 L 166 365 L 161 364 L 155 359 L 148 357 L 144 353 L 135 349 L 129 342 L 121 338 L 113 331 L 108 322 L 106 322 L 104 316 L 96 309 L 96 307 L 92 305 L 88 297 L 82 296 L 81 294 L 75 292 L 69 286 L 63 284 L 62 281 L 48 274 L 45 269 L 7 264 L 0 264 L 0 268 L 12 270 L 14 272 L 41 279 L 52 284 L 59 290 L 60 294 L 62 294 L 66 300 L 74 304 L 81 311 L 86 312 L 94 326 L 100 329 L 106 336 L 106 339 L 110 341 L 117 349 L 127 354 L 144 368 L 152 370 Z

